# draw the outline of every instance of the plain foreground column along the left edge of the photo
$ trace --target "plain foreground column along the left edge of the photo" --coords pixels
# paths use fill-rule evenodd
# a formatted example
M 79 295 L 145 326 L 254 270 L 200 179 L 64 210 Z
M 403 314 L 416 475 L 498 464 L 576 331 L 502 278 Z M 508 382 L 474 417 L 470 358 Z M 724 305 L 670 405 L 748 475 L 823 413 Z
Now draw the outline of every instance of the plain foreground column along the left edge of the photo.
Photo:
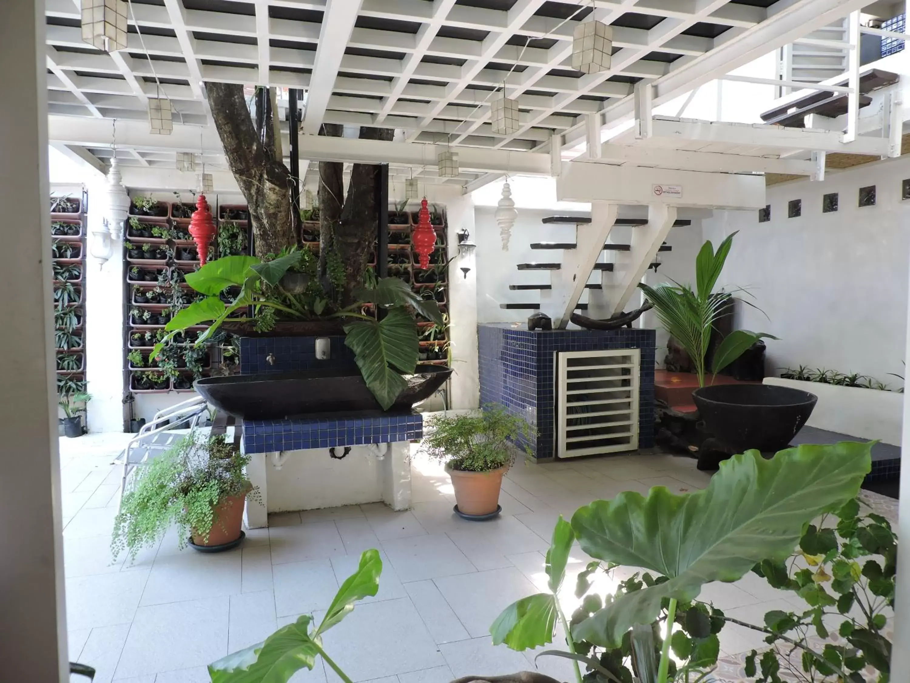
M 4 680 L 68 680 L 47 181 L 45 3 L 0 22 L 0 662 Z M 52 435 L 53 434 L 53 435 Z

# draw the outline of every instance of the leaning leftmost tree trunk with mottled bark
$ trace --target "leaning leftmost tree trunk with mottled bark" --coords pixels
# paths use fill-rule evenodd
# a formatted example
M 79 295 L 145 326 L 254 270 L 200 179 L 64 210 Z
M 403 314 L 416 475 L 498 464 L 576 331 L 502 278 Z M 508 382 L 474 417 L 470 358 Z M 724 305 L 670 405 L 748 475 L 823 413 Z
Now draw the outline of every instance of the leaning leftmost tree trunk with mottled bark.
M 266 148 L 260 142 L 243 86 L 207 83 L 206 95 L 227 165 L 249 205 L 256 253 L 264 257 L 293 246 L 296 239 L 290 171 L 275 158 L 274 148 Z M 265 127 L 271 128 L 269 121 Z

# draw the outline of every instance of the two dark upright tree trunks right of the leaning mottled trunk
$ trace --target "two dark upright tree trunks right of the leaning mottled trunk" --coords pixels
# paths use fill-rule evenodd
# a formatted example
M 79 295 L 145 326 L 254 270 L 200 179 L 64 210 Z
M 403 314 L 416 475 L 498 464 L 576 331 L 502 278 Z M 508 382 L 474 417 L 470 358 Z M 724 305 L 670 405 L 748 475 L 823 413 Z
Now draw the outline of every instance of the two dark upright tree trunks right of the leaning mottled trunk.
M 322 135 L 339 138 L 342 127 L 324 124 Z M 391 128 L 360 127 L 360 139 L 391 140 Z M 344 201 L 344 165 L 337 161 L 319 162 L 319 269 L 325 272 L 325 255 L 337 250 L 345 268 L 345 288 L 341 304 L 356 301 L 353 291 L 363 284 L 363 272 L 376 241 L 379 211 L 376 206 L 376 174 L 374 164 L 354 164 L 350 171 L 348 194 Z

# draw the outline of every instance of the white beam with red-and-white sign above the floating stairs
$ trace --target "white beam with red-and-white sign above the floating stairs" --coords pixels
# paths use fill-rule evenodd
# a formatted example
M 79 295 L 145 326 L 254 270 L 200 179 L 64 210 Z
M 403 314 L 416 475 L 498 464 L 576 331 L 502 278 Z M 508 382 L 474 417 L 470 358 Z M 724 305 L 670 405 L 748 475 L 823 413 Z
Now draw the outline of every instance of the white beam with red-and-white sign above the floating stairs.
M 562 164 L 556 199 L 705 209 L 762 209 L 766 203 L 763 176 L 578 161 Z

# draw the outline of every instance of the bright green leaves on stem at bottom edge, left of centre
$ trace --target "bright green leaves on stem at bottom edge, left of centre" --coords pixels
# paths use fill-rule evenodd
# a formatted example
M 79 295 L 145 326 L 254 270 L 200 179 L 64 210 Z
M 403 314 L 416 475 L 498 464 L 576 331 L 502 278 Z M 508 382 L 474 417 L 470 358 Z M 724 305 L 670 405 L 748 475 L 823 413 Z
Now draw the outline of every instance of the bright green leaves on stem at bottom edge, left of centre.
M 318 628 L 312 628 L 312 616 L 298 617 L 263 642 L 209 664 L 212 683 L 287 683 L 299 669 L 312 669 L 317 657 L 322 657 L 344 683 L 350 683 L 323 649 L 322 636 L 354 609 L 354 603 L 379 592 L 381 573 L 379 551 L 365 551 L 357 571 L 341 585 Z

